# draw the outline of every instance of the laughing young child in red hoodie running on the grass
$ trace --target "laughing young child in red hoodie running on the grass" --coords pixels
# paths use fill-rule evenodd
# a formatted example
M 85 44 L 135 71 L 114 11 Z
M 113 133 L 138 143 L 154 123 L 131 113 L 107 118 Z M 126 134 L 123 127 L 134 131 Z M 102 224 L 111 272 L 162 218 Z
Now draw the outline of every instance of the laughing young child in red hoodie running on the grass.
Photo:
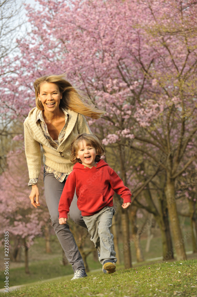
M 91 240 L 98 250 L 104 273 L 116 271 L 116 252 L 110 233 L 114 191 L 123 198 L 123 208 L 131 205 L 131 192 L 118 174 L 100 157 L 104 155 L 101 140 L 96 135 L 78 135 L 71 143 L 73 171 L 67 178 L 60 203 L 59 223 L 66 224 L 69 207 L 76 189 L 77 205 L 87 225 Z

